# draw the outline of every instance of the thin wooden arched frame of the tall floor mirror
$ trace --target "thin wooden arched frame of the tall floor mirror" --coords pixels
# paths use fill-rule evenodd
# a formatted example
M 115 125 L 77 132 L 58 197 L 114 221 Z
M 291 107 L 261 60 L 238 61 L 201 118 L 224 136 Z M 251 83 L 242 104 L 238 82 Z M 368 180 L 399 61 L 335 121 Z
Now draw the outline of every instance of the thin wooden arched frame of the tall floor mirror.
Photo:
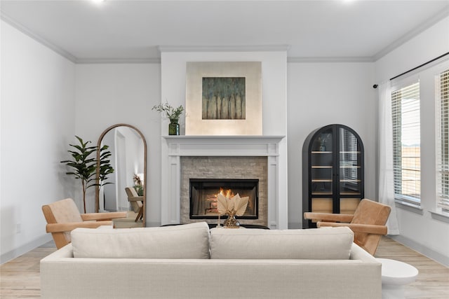
M 96 169 L 96 174 L 95 174 L 95 211 L 98 213 L 98 211 L 100 210 L 100 147 L 101 147 L 101 141 L 103 139 L 103 137 L 105 137 L 105 135 L 107 134 L 107 132 L 109 132 L 110 130 L 116 128 L 116 127 L 130 127 L 131 129 L 134 129 L 136 132 L 139 133 L 140 137 L 142 138 L 143 141 L 143 146 L 144 146 L 144 158 L 143 158 L 143 173 L 144 173 L 144 178 L 143 178 L 143 220 L 142 220 L 142 226 L 145 228 L 145 221 L 147 218 L 147 141 L 145 141 L 145 137 L 143 136 L 142 132 L 140 132 L 140 130 L 137 127 L 134 127 L 133 125 L 128 125 L 126 123 L 118 123 L 116 125 L 112 125 L 110 127 L 108 127 L 105 131 L 102 132 L 102 134 L 100 135 L 100 137 L 98 138 L 98 142 L 97 142 L 97 169 Z

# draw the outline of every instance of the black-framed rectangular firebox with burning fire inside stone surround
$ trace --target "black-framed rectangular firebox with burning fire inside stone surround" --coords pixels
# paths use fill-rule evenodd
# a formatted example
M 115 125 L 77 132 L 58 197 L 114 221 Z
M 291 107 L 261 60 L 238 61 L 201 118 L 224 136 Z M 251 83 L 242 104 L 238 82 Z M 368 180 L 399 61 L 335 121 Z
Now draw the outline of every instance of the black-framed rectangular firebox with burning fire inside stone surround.
M 249 197 L 245 214 L 237 218 L 257 219 L 259 217 L 259 180 L 258 179 L 189 179 L 190 181 L 190 218 L 217 219 L 217 195 L 222 193 L 232 197 Z

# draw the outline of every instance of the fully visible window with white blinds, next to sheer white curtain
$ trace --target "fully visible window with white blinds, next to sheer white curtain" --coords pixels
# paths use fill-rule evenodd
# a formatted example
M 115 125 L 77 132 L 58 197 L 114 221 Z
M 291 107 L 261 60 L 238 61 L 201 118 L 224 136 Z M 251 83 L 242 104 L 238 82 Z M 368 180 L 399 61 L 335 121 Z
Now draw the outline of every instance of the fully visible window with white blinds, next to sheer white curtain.
M 420 83 L 391 92 L 394 197 L 420 204 Z

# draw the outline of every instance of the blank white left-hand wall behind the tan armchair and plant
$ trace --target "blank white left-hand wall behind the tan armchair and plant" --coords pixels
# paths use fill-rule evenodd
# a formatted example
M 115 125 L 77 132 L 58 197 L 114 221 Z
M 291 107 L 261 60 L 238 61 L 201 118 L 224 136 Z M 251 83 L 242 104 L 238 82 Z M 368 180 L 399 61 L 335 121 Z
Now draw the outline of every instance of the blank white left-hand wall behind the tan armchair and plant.
M 1 263 L 51 239 L 73 132 L 74 64 L 1 21 Z

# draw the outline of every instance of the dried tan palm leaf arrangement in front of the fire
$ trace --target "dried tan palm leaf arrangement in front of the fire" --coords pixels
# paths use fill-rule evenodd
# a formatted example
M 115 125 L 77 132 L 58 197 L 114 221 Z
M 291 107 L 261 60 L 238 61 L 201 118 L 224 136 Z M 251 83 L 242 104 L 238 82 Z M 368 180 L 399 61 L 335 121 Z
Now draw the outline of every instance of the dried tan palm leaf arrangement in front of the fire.
M 220 215 L 227 214 L 227 220 L 224 225 L 226 228 L 239 228 L 239 223 L 235 216 L 242 216 L 248 206 L 249 197 L 240 197 L 237 193 L 233 197 L 226 197 L 222 193 L 217 195 L 217 209 Z

